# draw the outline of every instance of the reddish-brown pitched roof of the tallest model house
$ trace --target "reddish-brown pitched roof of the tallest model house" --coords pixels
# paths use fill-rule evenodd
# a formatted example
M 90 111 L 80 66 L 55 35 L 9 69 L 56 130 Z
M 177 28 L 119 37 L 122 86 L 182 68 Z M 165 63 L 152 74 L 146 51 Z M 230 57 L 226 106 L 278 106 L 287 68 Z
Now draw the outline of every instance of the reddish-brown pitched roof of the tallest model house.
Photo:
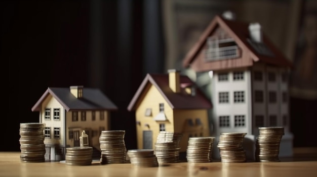
M 193 47 L 188 51 L 184 60 L 183 67 L 187 68 L 189 65 L 196 60 L 197 56 L 204 49 L 208 37 L 216 32 L 217 29 L 223 29 L 228 36 L 231 36 L 236 44 L 248 51 L 249 57 L 252 58 L 253 65 L 254 62 L 264 62 L 270 65 L 291 67 L 292 63 L 282 54 L 282 52 L 276 48 L 271 41 L 263 34 L 263 44 L 271 51 L 271 55 L 263 54 L 250 43 L 249 34 L 249 23 L 237 22 L 233 20 L 226 20 L 222 17 L 216 16 L 211 23 L 208 25 L 206 30 L 200 36 L 199 40 L 193 45 Z

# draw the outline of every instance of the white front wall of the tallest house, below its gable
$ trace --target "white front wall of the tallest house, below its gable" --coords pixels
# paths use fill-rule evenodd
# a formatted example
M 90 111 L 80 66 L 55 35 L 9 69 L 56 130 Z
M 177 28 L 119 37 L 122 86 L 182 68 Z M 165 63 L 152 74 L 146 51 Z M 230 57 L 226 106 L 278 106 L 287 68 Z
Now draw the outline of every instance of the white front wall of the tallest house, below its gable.
M 233 72 L 239 71 L 244 73 L 244 79 L 233 81 Z M 228 81 L 218 81 L 219 73 L 227 73 Z M 250 71 L 247 68 L 241 68 L 230 71 L 214 72 L 212 78 L 212 100 L 213 100 L 213 117 L 214 117 L 214 129 L 213 135 L 219 136 L 223 132 L 242 132 L 251 133 L 251 94 L 249 94 L 251 88 Z M 244 91 L 244 102 L 234 102 L 234 92 Z M 219 103 L 219 92 L 229 93 L 228 103 Z M 235 127 L 234 116 L 244 115 L 244 126 Z M 229 127 L 220 127 L 219 116 L 229 116 Z

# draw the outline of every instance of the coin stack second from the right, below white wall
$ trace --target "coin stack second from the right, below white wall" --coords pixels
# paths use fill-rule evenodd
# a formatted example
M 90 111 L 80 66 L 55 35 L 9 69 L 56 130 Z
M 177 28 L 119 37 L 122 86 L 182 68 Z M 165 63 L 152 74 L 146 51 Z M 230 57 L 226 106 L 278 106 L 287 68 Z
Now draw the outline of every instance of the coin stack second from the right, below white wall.
M 246 162 L 246 152 L 243 141 L 246 133 L 221 133 L 218 148 L 221 162 L 240 163 Z

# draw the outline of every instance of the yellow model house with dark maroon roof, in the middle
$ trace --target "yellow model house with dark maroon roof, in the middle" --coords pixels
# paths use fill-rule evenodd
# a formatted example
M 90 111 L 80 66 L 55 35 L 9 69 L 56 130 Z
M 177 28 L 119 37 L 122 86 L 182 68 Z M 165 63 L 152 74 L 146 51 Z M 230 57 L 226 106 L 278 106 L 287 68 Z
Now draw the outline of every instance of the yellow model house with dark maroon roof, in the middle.
M 180 152 L 189 137 L 209 136 L 208 109 L 211 102 L 177 70 L 147 74 L 133 96 L 128 110 L 135 110 L 137 146 L 153 149 L 160 131 L 182 133 Z

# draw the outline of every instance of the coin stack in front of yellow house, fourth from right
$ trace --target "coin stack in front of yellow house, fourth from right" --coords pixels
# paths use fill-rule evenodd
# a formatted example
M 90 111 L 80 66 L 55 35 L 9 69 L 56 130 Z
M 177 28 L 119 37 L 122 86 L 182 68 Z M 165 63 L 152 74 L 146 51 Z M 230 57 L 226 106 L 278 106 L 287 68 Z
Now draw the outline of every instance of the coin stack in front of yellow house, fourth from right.
M 182 134 L 162 131 L 156 139 L 154 154 L 159 164 L 179 162 L 179 142 Z

